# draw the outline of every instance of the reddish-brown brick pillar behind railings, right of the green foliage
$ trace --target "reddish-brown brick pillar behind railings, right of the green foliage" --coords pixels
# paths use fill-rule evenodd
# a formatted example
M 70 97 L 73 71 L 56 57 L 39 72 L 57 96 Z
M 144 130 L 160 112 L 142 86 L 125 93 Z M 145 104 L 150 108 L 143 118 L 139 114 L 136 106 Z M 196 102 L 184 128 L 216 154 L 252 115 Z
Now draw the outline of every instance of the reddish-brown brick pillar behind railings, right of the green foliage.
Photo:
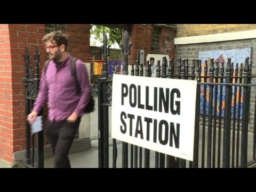
M 132 25 L 130 32 L 128 31 L 132 42 L 129 65 L 137 60 L 137 50 L 145 50 L 145 60 L 147 54 L 151 53 L 151 29 L 152 27 L 148 25 L 135 24 Z

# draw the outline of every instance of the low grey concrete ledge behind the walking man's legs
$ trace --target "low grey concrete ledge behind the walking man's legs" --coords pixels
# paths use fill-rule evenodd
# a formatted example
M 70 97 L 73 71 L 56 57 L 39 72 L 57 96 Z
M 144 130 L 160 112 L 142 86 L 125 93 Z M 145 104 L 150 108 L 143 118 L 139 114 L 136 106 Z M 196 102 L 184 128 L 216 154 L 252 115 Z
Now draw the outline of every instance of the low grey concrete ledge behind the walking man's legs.
M 82 151 L 89 150 L 90 148 L 91 148 L 91 139 L 75 140 L 73 142 L 73 145 L 71 146 L 69 154 L 79 153 Z M 30 154 L 32 154 L 32 149 L 30 150 Z M 52 158 L 52 157 L 53 157 L 53 154 L 52 154 L 51 145 L 44 146 L 44 159 Z M 14 153 L 14 162 L 19 163 L 24 159 L 26 159 L 26 150 L 22 150 Z M 2 167 L 1 164 L 0 164 L 0 167 Z

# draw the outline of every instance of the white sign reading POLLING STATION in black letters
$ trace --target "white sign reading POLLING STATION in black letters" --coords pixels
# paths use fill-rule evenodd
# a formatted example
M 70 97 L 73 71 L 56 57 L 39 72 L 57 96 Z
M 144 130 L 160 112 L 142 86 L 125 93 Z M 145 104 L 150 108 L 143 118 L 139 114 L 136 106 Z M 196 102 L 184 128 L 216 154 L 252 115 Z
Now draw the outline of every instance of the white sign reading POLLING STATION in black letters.
M 193 161 L 196 85 L 114 75 L 111 137 Z

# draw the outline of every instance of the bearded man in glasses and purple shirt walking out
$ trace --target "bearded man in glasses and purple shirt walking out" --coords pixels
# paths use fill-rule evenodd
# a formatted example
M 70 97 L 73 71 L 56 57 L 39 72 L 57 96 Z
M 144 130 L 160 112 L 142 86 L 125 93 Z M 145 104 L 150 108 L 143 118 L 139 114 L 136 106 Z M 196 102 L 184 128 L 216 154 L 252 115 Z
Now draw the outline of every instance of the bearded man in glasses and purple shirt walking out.
M 50 62 L 43 70 L 39 92 L 27 121 L 33 124 L 47 101 L 49 108 L 45 126 L 53 154 L 54 167 L 70 168 L 68 153 L 90 100 L 90 83 L 87 69 L 81 60 L 76 60 L 77 81 L 70 70 L 71 55 L 67 52 L 68 40 L 61 31 L 53 31 L 42 39 Z

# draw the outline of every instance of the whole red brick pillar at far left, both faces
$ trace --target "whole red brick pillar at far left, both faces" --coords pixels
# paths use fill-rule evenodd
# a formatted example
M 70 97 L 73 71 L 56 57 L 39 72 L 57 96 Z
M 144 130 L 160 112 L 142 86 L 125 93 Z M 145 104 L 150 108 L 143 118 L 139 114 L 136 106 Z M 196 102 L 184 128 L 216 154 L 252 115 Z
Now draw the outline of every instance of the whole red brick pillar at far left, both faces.
M 35 44 L 39 44 L 40 59 L 44 62 L 44 35 L 44 24 L 0 25 L 0 159 L 10 163 L 15 151 L 26 148 L 25 46 L 34 65 Z

